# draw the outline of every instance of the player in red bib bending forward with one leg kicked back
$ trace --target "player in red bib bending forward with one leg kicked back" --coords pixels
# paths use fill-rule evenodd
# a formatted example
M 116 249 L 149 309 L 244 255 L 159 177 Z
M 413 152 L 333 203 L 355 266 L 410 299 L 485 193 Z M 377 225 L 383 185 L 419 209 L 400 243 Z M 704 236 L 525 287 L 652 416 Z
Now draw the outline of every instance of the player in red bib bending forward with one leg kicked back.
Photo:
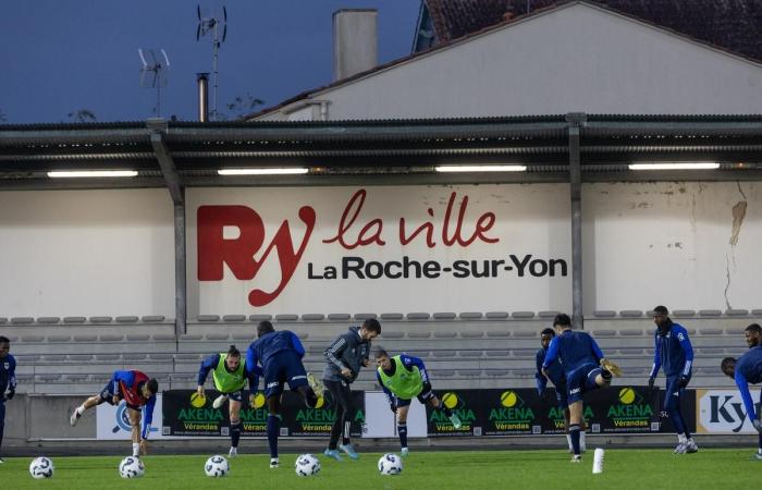
M 153 420 L 153 406 L 156 405 L 156 394 L 159 392 L 159 382 L 156 378 L 148 379 L 144 372 L 131 371 L 114 371 L 111 381 L 103 388 L 99 394 L 85 400 L 85 403 L 74 408 L 74 413 L 69 421 L 72 426 L 76 426 L 79 417 L 86 409 L 93 408 L 106 402 L 110 405 L 116 405 L 124 400 L 127 404 L 127 415 L 130 416 L 130 425 L 132 426 L 133 436 L 133 456 L 139 457 L 140 453 L 148 452 L 148 434 L 151 431 L 151 421 Z M 146 419 L 140 431 L 140 408 L 146 407 Z

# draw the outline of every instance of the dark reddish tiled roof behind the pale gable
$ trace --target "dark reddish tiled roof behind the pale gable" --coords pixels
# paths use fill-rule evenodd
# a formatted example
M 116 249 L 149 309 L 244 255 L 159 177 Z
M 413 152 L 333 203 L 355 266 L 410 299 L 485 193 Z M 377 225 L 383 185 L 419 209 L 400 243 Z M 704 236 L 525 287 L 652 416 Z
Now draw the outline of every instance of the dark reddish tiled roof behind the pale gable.
M 586 0 L 757 61 L 762 61 L 762 0 Z M 526 0 L 425 0 L 437 42 L 526 14 Z M 531 11 L 568 0 L 531 0 Z

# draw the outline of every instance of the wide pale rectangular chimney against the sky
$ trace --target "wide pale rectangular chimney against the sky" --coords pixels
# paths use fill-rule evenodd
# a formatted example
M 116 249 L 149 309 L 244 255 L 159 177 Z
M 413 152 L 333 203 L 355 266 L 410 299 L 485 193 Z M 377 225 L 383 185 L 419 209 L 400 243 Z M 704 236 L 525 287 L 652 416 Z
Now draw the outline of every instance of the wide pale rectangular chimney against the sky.
M 378 10 L 342 9 L 333 13 L 333 81 L 374 68 Z

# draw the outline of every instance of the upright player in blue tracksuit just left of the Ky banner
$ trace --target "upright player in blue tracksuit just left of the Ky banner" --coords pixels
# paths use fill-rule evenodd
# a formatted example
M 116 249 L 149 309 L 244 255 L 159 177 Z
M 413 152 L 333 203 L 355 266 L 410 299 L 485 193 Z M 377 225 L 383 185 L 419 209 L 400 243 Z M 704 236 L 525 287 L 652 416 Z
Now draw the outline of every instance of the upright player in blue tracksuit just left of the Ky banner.
M 674 453 L 695 453 L 699 451 L 699 446 L 696 445 L 696 441 L 690 436 L 680 409 L 685 388 L 690 382 L 693 347 L 685 327 L 669 319 L 669 310 L 666 306 L 659 305 L 653 308 L 653 322 L 656 324 L 653 334 L 655 350 L 653 367 L 648 380 L 649 391 L 653 389 L 659 368 L 663 367 L 666 377 L 664 409 L 669 414 L 672 424 L 677 431 L 677 448 L 675 448 Z

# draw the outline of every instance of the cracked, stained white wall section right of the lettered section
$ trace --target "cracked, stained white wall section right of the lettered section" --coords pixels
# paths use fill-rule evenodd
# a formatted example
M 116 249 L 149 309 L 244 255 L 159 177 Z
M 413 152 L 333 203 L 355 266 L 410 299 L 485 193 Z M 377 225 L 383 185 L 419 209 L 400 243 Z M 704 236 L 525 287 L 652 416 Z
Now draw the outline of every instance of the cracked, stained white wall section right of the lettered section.
M 762 307 L 762 184 L 582 188 L 586 314 Z

